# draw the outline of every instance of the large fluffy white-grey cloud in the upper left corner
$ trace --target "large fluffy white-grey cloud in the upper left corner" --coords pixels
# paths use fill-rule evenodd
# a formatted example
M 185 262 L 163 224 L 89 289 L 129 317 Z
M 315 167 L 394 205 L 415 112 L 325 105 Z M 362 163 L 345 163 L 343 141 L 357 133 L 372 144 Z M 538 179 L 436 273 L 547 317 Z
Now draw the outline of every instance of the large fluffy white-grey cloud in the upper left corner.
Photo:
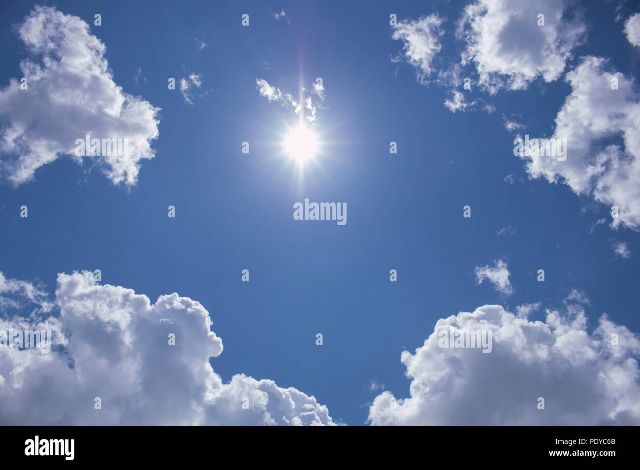
M 20 88 L 20 79 L 0 89 L 2 177 L 20 185 L 36 169 L 70 155 L 79 163 L 91 159 L 115 184 L 136 184 L 140 161 L 154 157 L 159 108 L 113 81 L 106 47 L 80 18 L 36 6 L 18 33 L 30 56 L 20 63 L 28 89 Z M 87 134 L 126 139 L 127 152 L 78 155 L 76 140 Z

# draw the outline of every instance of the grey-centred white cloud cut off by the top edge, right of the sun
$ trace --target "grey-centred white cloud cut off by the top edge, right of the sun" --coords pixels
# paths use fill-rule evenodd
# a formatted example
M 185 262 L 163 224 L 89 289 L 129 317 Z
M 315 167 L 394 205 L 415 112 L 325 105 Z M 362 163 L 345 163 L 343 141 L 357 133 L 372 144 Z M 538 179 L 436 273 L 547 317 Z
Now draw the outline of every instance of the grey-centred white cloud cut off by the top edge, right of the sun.
M 465 7 L 456 35 L 463 40 L 462 64 L 474 64 L 479 86 L 524 90 L 542 77 L 563 73 L 572 49 L 584 37 L 584 24 L 563 17 L 567 1 L 479 0 Z M 544 26 L 538 26 L 544 15 Z

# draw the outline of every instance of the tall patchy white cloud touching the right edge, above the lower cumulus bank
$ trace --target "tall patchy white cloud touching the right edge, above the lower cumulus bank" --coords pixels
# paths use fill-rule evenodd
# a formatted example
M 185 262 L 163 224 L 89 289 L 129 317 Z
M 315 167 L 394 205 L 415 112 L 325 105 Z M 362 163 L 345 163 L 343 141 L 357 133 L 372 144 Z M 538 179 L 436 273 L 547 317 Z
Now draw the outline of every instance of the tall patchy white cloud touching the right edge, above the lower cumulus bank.
M 640 230 L 640 101 L 635 84 L 620 72 L 607 71 L 605 59 L 592 56 L 568 72 L 566 81 L 572 93 L 557 113 L 552 136 L 566 139 L 566 160 L 523 155 L 527 173 L 618 206 L 612 225 Z

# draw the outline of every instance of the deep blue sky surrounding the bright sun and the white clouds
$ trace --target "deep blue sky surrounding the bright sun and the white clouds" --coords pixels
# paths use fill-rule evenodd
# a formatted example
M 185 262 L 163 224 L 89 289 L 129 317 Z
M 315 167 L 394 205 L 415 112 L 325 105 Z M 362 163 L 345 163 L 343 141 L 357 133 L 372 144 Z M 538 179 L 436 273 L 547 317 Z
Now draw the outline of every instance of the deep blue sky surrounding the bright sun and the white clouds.
M 422 347 L 438 320 L 485 305 L 500 305 L 515 314 L 518 306 L 540 302 L 529 322 L 550 322 L 547 309 L 561 311 L 566 318 L 584 315 L 586 327 L 573 327 L 588 335 L 596 334 L 598 318 L 606 313 L 613 324 L 627 329 L 628 349 L 621 356 L 637 361 L 640 224 L 634 211 L 640 200 L 621 189 L 625 196 L 619 203 L 630 215 L 612 226 L 612 203 L 607 195 L 598 200 L 595 182 L 577 194 L 568 184 L 550 183 L 547 173 L 535 178 L 524 159 L 513 153 L 518 134 L 564 136 L 558 134 L 556 119 L 582 75 L 573 85 L 567 77 L 587 56 L 608 59 L 594 68 L 617 71 L 621 83 L 630 81 L 628 88 L 618 91 L 628 93 L 627 101 L 637 111 L 640 46 L 631 42 L 637 33 L 627 33 L 637 21 L 625 29 L 637 13 L 632 3 L 563 8 L 534 2 L 541 12 L 563 12 L 562 19 L 547 14 L 547 25 L 540 27 L 556 28 L 551 42 L 556 44 L 556 38 L 567 52 L 560 54 L 561 65 L 536 59 L 540 51 L 533 50 L 535 41 L 532 51 L 506 52 L 504 57 L 514 54 L 523 62 L 527 54 L 534 57 L 530 62 L 535 73 L 527 75 L 519 89 L 509 82 L 518 74 L 502 73 L 499 58 L 481 48 L 456 72 L 461 54 L 470 51 L 469 36 L 456 35 L 468 2 L 201 2 L 188 8 L 174 2 L 159 2 L 153 8 L 136 2 L 39 4 L 56 8 L 46 15 L 57 11 L 90 26 L 90 35 L 106 46 L 103 57 L 113 82 L 123 93 L 160 108 L 158 135 L 148 139 L 154 157 L 140 160 L 133 184 L 115 183 L 100 162 L 84 159 L 77 164 L 64 152 L 15 184 L 15 167 L 6 162 L 14 162 L 22 150 L 4 148 L 0 270 L 6 279 L 40 285 L 55 299 L 58 273 L 100 269 L 100 285 L 123 286 L 147 295 L 152 304 L 161 295 L 177 292 L 208 311 L 212 331 L 224 343 L 224 352 L 211 364 L 224 382 L 236 373 L 271 379 L 279 387 L 314 396 L 328 407 L 334 422 L 348 425 L 362 425 L 367 419 L 374 424 L 423 423 L 419 420 L 424 410 L 417 417 L 407 418 L 407 411 L 404 418 L 394 418 L 375 407 L 371 411 L 370 405 L 374 399 L 387 400 L 387 392 L 399 400 L 410 396 L 412 379 L 405 377 L 400 361 L 403 350 L 413 354 Z M 520 2 L 514 5 L 517 9 Z M 17 102 L 10 97 L 10 79 L 24 76 L 20 61 L 42 59 L 28 50 L 18 33 L 33 8 L 24 2 L 2 6 L 4 130 L 12 113 L 24 110 L 10 107 Z M 497 7 L 491 8 L 486 21 Z M 522 11 L 533 7 L 527 8 L 522 6 Z M 274 17 L 279 12 L 285 16 Z M 93 24 L 95 13 L 102 15 L 101 26 Z M 243 13 L 250 15 L 249 26 L 241 24 Z M 391 13 L 399 26 L 390 26 Z M 498 12 L 495 17 L 508 14 Z M 437 27 L 426 32 L 416 27 L 429 15 L 441 20 L 440 34 Z M 535 16 L 524 17 L 536 21 Z M 483 15 L 474 10 L 472 18 L 481 20 Z M 562 37 L 571 29 L 566 24 L 572 25 L 575 36 Z M 394 39 L 394 31 L 406 33 L 404 39 Z M 538 29 L 532 31 L 538 34 Z M 509 27 L 496 33 L 505 50 L 513 42 L 509 34 Z M 418 51 L 429 73 L 412 63 L 408 52 L 424 38 L 438 41 L 433 57 L 424 55 L 424 49 Z M 516 40 L 514 47 L 523 44 L 527 42 Z M 484 83 L 483 70 L 489 71 Z M 444 74 L 447 71 L 451 75 Z M 180 79 L 189 82 L 190 75 L 200 86 L 191 81 L 191 88 L 182 93 Z M 170 77 L 177 82 L 176 90 L 168 90 Z M 317 77 L 323 79 L 323 98 L 312 93 Z M 463 77 L 471 78 L 472 90 L 463 89 Z M 300 114 L 283 106 L 284 100 L 262 96 L 259 79 L 296 99 L 304 87 L 305 96 L 314 98 L 317 115 L 309 125 L 322 145 L 316 163 L 305 165 L 303 173 L 282 154 L 285 131 Z M 23 94 L 34 88 L 37 84 Z M 74 94 L 70 84 L 65 90 Z M 99 100 L 92 90 L 81 86 L 77 96 Z M 603 90 L 611 91 L 606 86 Z M 445 100 L 452 100 L 455 91 L 463 93 L 468 107 L 452 112 Z M 49 109 L 68 111 L 60 121 L 67 129 L 73 124 L 79 130 L 83 121 L 73 107 L 82 105 L 67 99 L 70 107 Z M 47 106 L 30 103 L 36 109 Z M 580 116 L 601 111 L 584 106 Z M 96 109 L 104 113 L 100 106 Z M 621 111 L 612 104 L 611 112 Z M 624 112 L 633 116 L 633 111 Z M 33 132 L 24 131 L 26 137 L 33 139 L 40 129 L 54 127 L 38 111 L 33 116 Z M 508 121 L 516 127 L 506 129 Z M 570 118 L 559 122 L 566 123 L 569 136 L 575 135 L 571 125 L 588 127 Z M 134 124 L 129 120 L 119 129 Z M 147 125 L 153 127 L 148 119 Z M 621 161 L 639 159 L 637 140 L 625 134 L 632 125 L 612 118 L 609 127 L 602 135 L 593 132 L 589 155 L 613 144 L 623 154 Z M 84 137 L 84 132 L 77 137 Z M 241 152 L 244 141 L 250 143 L 250 153 Z M 389 152 L 392 141 L 397 143 L 396 154 Z M 587 162 L 588 157 L 582 159 L 578 152 L 572 155 L 575 146 L 570 137 L 568 160 Z M 584 165 L 576 168 L 564 175 L 563 169 L 557 172 L 578 180 L 579 171 L 587 170 Z M 628 171 L 626 179 L 616 173 L 606 182 L 637 187 L 634 176 L 638 173 Z M 294 220 L 292 205 L 305 198 L 346 203 L 347 223 Z M 28 207 L 27 218 L 20 217 L 22 205 Z M 167 217 L 170 205 L 175 206 L 175 218 Z M 471 207 L 470 218 L 463 217 L 465 205 Z M 477 269 L 498 266 L 508 267 L 506 290 L 488 279 L 479 283 Z M 248 283 L 241 281 L 243 269 L 250 270 Z M 390 282 L 390 269 L 397 270 L 397 282 Z M 538 269 L 545 270 L 544 282 L 536 280 Z M 573 290 L 589 301 L 566 301 Z M 19 295 L 8 288 L 4 293 Z M 63 301 L 56 302 L 47 315 L 59 316 L 65 308 Z M 7 315 L 17 314 L 4 315 L 9 321 Z M 65 328 L 73 338 L 69 325 Z M 322 346 L 316 345 L 317 333 L 323 334 Z M 598 349 L 595 363 L 600 356 L 607 354 Z M 462 370 L 468 372 L 472 364 Z M 586 374 L 575 362 L 567 364 L 577 375 Z M 499 367 L 499 360 L 488 361 L 486 370 Z M 521 370 L 525 373 L 527 368 L 529 364 Z M 490 374 L 481 377 L 493 380 Z M 629 380 L 637 386 L 637 377 Z M 372 383 L 377 385 L 372 388 Z M 566 390 L 563 383 L 556 385 Z M 593 385 L 594 396 L 602 395 L 598 386 L 602 384 Z M 511 396 L 508 383 L 500 389 Z M 637 391 L 634 395 L 625 390 L 623 398 L 613 394 L 617 398 L 608 408 L 600 401 L 591 407 L 605 410 L 600 415 L 591 414 L 585 402 L 577 411 L 584 421 L 550 423 L 598 424 L 616 419 L 611 409 L 622 409 L 625 419 L 636 422 Z M 541 396 L 534 395 L 533 409 Z M 428 407 L 425 403 L 455 407 L 438 401 L 445 398 L 420 396 L 413 398 L 417 409 Z M 503 421 L 496 416 L 504 411 L 494 410 L 491 419 L 443 414 L 440 421 L 424 423 L 538 423 L 515 411 L 520 400 L 528 398 L 515 389 L 511 398 L 516 404 L 506 413 L 513 416 Z M 491 409 L 491 401 L 481 406 Z M 4 422 L 12 422 L 8 414 Z

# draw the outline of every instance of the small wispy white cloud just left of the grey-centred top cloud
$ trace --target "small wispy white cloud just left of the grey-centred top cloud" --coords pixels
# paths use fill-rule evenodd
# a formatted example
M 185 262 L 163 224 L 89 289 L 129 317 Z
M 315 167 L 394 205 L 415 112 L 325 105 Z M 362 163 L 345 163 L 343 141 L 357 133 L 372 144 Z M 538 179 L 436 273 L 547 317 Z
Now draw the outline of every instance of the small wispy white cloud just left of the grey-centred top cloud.
M 420 84 L 426 84 L 433 71 L 433 58 L 440 52 L 440 36 L 443 19 L 435 13 L 417 20 L 408 19 L 398 22 L 394 27 L 392 38 L 402 40 L 403 51 L 394 61 L 406 60 L 416 70 L 416 77 Z

